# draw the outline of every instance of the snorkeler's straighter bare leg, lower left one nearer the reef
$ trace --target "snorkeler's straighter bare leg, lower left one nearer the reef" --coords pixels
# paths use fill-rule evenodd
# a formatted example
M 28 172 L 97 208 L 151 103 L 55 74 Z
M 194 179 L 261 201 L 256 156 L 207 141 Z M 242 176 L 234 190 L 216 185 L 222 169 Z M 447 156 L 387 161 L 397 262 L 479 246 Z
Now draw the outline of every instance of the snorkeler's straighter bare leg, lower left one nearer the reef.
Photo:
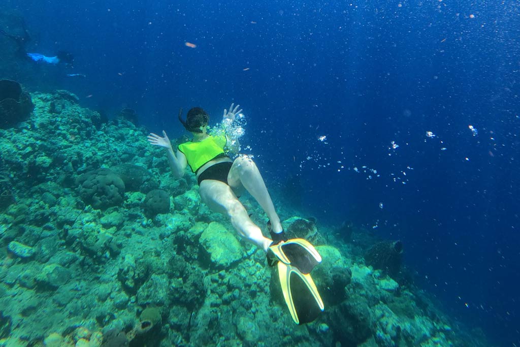
M 262 230 L 251 221 L 248 211 L 227 184 L 213 179 L 204 179 L 200 183 L 199 192 L 202 201 L 210 210 L 227 214 L 231 225 L 240 236 L 267 252 L 272 240 L 262 235 Z

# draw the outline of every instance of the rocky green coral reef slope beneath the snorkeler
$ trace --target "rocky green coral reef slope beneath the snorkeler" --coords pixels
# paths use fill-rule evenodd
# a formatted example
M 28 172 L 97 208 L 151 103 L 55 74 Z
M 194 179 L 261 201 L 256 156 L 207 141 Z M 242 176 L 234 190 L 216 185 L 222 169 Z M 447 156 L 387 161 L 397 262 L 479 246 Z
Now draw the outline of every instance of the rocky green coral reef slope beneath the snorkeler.
M 265 252 L 201 204 L 192 175 L 171 177 L 144 129 L 96 124 L 64 93 L 32 99 L 30 123 L 0 129 L 12 196 L 0 210 L 0 346 L 487 345 L 386 265 L 368 265 L 365 243 L 325 245 L 335 228 L 282 207 L 285 230 L 323 258 L 313 278 L 326 310 L 294 326 Z M 143 209 L 152 189 L 173 201 L 159 214 Z

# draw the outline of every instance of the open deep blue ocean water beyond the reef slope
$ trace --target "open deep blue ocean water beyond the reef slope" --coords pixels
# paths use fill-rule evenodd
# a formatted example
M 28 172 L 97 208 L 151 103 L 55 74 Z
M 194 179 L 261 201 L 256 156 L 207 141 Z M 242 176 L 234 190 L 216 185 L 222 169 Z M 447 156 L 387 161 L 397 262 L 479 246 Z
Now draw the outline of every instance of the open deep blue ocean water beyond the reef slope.
M 520 345 L 518 1 L 6 1 L 29 50 L 75 56 L 41 89 L 171 138 L 179 107 L 239 103 L 273 195 L 402 240 L 447 312 Z

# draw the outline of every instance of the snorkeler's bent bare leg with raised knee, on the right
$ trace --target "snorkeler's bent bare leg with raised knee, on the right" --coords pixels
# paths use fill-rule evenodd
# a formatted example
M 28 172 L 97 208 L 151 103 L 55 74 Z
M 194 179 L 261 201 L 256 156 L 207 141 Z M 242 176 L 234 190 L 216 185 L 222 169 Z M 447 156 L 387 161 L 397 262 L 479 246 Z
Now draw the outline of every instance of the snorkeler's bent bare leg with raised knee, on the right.
M 271 221 L 272 231 L 275 233 L 282 232 L 280 217 L 275 211 L 275 206 L 272 204 L 264 179 L 251 158 L 242 155 L 233 161 L 233 165 L 228 174 L 228 184 L 233 190 L 240 189 L 241 186 L 247 189 L 249 194 L 258 201 L 267 214 L 267 217 Z

